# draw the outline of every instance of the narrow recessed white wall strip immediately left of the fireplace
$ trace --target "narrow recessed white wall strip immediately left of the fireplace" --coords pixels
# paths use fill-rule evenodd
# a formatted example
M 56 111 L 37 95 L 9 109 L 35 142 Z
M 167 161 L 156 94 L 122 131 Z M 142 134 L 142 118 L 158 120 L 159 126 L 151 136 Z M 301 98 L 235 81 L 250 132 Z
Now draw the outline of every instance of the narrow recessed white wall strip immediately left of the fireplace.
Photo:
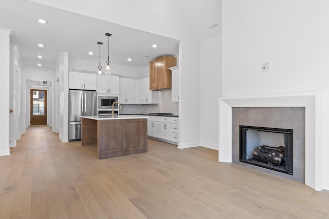
M 218 97 L 222 95 L 222 35 L 201 43 L 200 139 L 218 150 Z

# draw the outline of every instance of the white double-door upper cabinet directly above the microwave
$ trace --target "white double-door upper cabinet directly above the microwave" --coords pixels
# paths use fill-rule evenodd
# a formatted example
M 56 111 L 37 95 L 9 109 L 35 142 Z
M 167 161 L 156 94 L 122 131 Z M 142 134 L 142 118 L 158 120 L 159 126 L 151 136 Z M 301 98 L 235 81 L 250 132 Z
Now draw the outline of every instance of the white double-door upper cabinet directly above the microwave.
M 119 77 L 98 75 L 97 92 L 98 94 L 119 94 Z

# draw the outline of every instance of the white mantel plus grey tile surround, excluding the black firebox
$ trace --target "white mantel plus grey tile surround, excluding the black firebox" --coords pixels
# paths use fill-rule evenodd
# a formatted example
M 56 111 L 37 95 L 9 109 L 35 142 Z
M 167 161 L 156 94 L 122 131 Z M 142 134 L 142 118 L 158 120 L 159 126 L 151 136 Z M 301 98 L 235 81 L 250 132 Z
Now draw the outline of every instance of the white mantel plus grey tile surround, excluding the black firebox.
M 268 95 L 224 96 L 219 98 L 219 126 L 218 126 L 218 161 L 240 163 L 253 169 L 291 178 L 304 182 L 311 188 L 321 191 L 324 186 L 329 188 L 324 180 L 324 92 L 308 91 L 294 93 L 279 93 Z M 257 111 L 244 111 L 234 115 L 236 108 L 304 108 L 304 114 L 293 113 L 282 117 L 280 123 L 266 114 Z M 239 110 L 240 111 L 240 110 Z M 282 111 L 283 112 L 283 111 Z M 238 117 L 236 117 L 238 116 Z M 245 118 L 252 117 L 252 120 Z M 301 120 L 302 119 L 302 120 Z M 250 123 L 251 121 L 251 123 Z M 299 123 L 295 123 L 298 122 Z M 302 122 L 300 122 L 302 121 Z M 236 123 L 235 123 L 236 122 Z M 289 125 L 289 123 L 293 123 Z M 236 126 L 236 125 L 237 126 Z M 239 160 L 239 124 L 258 127 L 285 127 L 294 130 L 294 175 L 249 165 Z M 235 142 L 235 140 L 237 142 Z M 237 148 L 236 148 L 237 146 Z M 299 175 L 299 177 L 298 177 Z

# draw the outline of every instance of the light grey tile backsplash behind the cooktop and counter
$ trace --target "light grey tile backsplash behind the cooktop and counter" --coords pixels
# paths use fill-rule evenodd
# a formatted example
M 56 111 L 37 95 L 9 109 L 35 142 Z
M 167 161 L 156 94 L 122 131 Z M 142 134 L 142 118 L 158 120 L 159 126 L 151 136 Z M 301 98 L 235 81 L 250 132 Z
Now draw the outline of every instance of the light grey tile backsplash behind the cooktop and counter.
M 122 104 L 119 114 L 132 113 L 173 113 L 178 115 L 178 103 L 171 103 L 171 90 L 157 91 L 159 104 Z

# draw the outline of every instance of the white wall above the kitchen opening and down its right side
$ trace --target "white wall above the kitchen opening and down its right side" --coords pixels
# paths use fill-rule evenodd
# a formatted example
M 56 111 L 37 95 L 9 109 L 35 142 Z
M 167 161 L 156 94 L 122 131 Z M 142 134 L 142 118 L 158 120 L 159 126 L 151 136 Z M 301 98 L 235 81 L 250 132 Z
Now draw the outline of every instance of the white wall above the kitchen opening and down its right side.
M 65 0 L 33 2 L 180 40 L 179 147 L 199 145 L 200 108 L 195 106 L 195 102 L 198 102 L 200 97 L 200 42 L 186 17 L 179 11 L 176 1 L 96 0 L 93 4 L 80 1 L 78 5 L 76 2 Z M 108 7 L 99 7 L 102 5 L 111 5 L 111 13 L 108 13 Z

